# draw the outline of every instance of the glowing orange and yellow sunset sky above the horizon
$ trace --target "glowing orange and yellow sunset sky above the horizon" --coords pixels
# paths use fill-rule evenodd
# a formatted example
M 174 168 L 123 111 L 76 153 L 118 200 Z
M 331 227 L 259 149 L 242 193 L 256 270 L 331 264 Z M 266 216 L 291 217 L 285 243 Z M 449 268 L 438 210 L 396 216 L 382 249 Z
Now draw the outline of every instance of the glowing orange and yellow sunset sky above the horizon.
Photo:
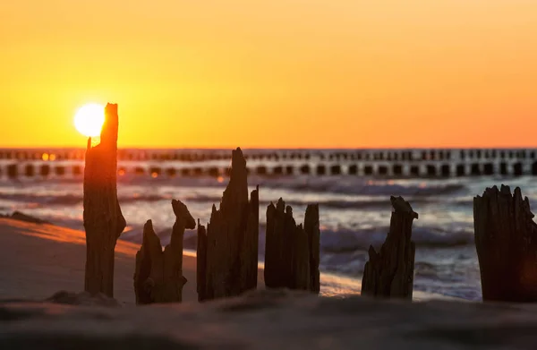
M 261 4 L 263 3 L 263 4 Z M 535 0 L 0 3 L 0 146 L 537 146 Z

